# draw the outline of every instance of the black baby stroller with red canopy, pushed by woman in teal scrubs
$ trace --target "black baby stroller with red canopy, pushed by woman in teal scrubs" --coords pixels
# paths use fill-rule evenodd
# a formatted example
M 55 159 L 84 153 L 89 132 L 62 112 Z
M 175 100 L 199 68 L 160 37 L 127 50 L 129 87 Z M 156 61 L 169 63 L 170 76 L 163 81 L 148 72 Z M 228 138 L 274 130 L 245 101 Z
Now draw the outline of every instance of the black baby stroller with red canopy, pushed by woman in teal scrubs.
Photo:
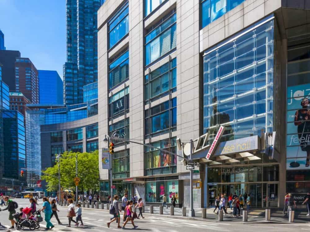
M 16 219 L 16 229 L 23 230 L 28 227 L 30 230 L 40 228 L 40 222 L 43 221 L 40 211 L 31 213 L 31 208 L 20 208 L 20 213 L 14 215 Z

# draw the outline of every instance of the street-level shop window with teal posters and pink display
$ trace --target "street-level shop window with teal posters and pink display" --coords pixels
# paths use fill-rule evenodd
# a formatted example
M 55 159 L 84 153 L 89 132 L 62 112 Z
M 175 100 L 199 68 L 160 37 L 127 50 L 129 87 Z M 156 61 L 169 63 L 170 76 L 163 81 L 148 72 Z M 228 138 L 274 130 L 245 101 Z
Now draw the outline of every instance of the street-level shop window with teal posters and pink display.
M 146 202 L 162 202 L 166 194 L 167 203 L 171 203 L 173 195 L 179 198 L 179 180 L 149 181 L 145 184 L 145 191 Z

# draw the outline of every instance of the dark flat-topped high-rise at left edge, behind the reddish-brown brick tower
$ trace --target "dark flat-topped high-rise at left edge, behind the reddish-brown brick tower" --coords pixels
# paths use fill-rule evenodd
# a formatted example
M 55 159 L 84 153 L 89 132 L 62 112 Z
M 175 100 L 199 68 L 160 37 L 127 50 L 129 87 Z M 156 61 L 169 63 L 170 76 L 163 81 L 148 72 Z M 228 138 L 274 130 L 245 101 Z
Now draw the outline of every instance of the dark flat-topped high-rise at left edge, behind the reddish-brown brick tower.
M 1 50 L 2 80 L 9 86 L 10 92 L 15 92 L 15 61 L 20 58 L 19 51 Z

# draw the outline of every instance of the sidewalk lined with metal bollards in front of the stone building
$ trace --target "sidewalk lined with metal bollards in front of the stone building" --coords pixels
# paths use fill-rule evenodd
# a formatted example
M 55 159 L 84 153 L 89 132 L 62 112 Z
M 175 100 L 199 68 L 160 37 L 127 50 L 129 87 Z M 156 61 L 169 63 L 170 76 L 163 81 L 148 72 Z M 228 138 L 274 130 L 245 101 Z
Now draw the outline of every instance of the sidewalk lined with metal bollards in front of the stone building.
M 61 206 L 59 206 L 61 207 Z M 61 207 L 64 208 L 64 207 Z M 94 210 L 96 208 L 83 208 L 83 210 Z M 101 205 L 99 205 L 100 211 L 104 211 L 108 213 L 108 210 L 106 209 L 106 203 L 104 203 L 104 209 L 101 209 Z M 182 208 L 175 208 L 174 209 L 174 216 L 170 215 L 170 207 L 163 208 L 163 214 L 159 214 L 159 207 L 153 207 L 153 214 L 150 213 L 150 207 L 146 206 L 144 209 L 144 214 L 147 216 L 156 216 L 156 217 L 168 217 L 168 218 L 175 218 L 175 219 L 183 219 L 183 220 L 199 220 L 199 221 L 214 221 L 219 222 L 218 215 L 215 214 L 217 210 L 214 211 L 214 208 L 207 208 L 206 209 L 206 218 L 202 218 L 202 209 L 201 208 L 195 208 L 195 217 L 188 217 L 189 209 L 186 208 L 186 216 L 182 216 Z M 301 209 L 295 209 L 295 220 L 294 223 L 309 223 L 310 217 L 306 216 L 307 212 L 305 210 Z M 229 221 L 229 222 L 236 222 L 236 223 L 289 223 L 288 221 L 288 215 L 282 213 L 282 209 L 271 209 L 271 217 L 270 221 L 265 221 L 265 209 L 263 208 L 253 208 L 248 211 L 248 221 L 243 222 L 242 221 L 242 209 L 240 212 L 240 217 L 232 217 L 232 210 L 230 208 L 227 208 L 227 214 L 226 216 L 223 216 L 223 221 Z

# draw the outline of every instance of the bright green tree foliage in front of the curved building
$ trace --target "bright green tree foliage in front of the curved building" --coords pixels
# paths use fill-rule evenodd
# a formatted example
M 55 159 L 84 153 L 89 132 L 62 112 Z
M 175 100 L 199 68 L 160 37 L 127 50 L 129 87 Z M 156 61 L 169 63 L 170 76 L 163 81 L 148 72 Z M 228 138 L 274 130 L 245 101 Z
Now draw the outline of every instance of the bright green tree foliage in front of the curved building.
M 81 179 L 79 189 L 90 190 L 99 186 L 98 151 L 93 153 L 64 152 L 60 157 L 60 186 L 75 189 L 75 160 L 78 155 L 78 177 Z M 53 167 L 43 171 L 42 179 L 47 182 L 47 191 L 58 190 L 58 160 Z

